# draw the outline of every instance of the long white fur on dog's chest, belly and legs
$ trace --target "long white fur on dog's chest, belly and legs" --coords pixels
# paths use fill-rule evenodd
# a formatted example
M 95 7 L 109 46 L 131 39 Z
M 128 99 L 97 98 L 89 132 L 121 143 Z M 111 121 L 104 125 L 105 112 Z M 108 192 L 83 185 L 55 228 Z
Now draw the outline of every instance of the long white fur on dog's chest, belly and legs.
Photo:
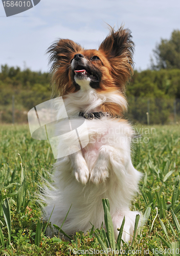
M 87 83 L 87 81 L 84 81 Z M 98 112 L 104 102 L 125 105 L 125 99 L 118 93 L 97 93 L 84 84 L 76 93 L 66 95 L 64 100 L 68 115 L 78 116 L 80 111 Z M 58 102 L 57 102 L 58 104 Z M 58 118 L 61 110 L 58 111 Z M 54 184 L 44 188 L 43 200 L 47 203 L 46 219 L 52 210 L 51 223 L 61 226 L 71 204 L 69 215 L 62 226 L 68 234 L 76 231 L 86 233 L 100 228 L 104 221 L 102 198 L 108 198 L 117 239 L 122 220 L 124 241 L 131 240 L 137 211 L 130 211 L 130 202 L 138 192 L 139 173 L 132 165 L 130 143 L 131 126 L 116 118 L 86 120 L 89 143 L 82 151 L 66 156 L 55 163 Z M 67 140 L 71 148 L 71 138 Z M 55 207 L 54 207 L 55 206 Z

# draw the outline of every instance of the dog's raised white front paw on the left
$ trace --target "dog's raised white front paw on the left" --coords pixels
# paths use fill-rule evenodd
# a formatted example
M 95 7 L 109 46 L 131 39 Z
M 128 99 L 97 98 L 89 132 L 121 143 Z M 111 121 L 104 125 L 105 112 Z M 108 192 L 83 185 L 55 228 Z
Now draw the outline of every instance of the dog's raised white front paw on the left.
M 85 162 L 85 160 L 84 160 Z M 82 184 L 86 184 L 89 179 L 89 169 L 86 162 L 81 163 L 73 170 L 76 180 Z

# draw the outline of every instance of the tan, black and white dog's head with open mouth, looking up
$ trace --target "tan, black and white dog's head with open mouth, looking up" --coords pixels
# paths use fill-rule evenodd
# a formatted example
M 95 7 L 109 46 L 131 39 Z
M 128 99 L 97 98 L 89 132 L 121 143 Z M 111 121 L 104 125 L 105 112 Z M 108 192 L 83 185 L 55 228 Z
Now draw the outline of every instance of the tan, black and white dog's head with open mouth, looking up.
M 110 27 L 98 50 L 85 50 L 69 39 L 56 41 L 49 49 L 52 83 L 60 96 L 79 90 L 124 93 L 133 70 L 134 44 L 128 29 Z

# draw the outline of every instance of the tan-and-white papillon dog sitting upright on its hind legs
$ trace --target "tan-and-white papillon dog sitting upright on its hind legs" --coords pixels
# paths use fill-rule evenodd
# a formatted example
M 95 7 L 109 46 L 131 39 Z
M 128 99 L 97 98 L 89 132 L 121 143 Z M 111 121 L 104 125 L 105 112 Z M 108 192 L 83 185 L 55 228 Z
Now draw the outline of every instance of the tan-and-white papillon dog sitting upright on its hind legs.
M 138 211 L 130 203 L 138 192 L 141 173 L 131 162 L 133 129 L 123 113 L 127 110 L 126 83 L 133 73 L 134 44 L 131 32 L 123 27 L 110 32 L 98 50 L 85 50 L 76 42 L 60 39 L 48 50 L 52 83 L 62 96 L 68 116 L 83 118 L 88 144 L 58 159 L 54 183 L 44 188 L 46 219 L 71 235 L 100 228 L 104 223 L 102 199 L 110 204 L 115 238 L 125 216 L 122 239 L 133 236 Z M 58 102 L 57 102 L 58 104 Z M 58 110 L 58 119 L 61 117 Z M 60 144 L 57 150 L 61 150 Z M 53 210 L 54 208 L 54 210 Z

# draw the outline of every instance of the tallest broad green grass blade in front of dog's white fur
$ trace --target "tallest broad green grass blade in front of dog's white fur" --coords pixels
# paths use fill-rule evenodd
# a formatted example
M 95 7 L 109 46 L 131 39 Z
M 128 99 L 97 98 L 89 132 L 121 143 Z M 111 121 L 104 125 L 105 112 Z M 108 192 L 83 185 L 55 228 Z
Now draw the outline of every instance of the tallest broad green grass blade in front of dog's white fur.
M 104 222 L 105 222 L 106 231 L 107 231 L 107 239 L 108 239 L 110 248 L 113 250 L 116 250 L 115 232 L 114 232 L 113 221 L 110 216 L 108 199 L 102 199 L 102 203 L 104 208 Z

